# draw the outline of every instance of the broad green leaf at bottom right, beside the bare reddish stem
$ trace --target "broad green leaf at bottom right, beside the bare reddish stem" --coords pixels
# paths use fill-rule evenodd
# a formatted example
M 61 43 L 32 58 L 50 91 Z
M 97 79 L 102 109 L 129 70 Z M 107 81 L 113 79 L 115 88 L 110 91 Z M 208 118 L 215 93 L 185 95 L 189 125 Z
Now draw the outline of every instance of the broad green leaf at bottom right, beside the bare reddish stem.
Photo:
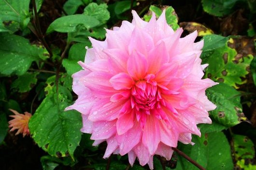
M 230 146 L 223 132 L 193 136 L 193 146 L 179 144 L 179 149 L 206 170 L 233 170 Z M 198 170 L 196 166 L 179 156 L 175 170 Z

